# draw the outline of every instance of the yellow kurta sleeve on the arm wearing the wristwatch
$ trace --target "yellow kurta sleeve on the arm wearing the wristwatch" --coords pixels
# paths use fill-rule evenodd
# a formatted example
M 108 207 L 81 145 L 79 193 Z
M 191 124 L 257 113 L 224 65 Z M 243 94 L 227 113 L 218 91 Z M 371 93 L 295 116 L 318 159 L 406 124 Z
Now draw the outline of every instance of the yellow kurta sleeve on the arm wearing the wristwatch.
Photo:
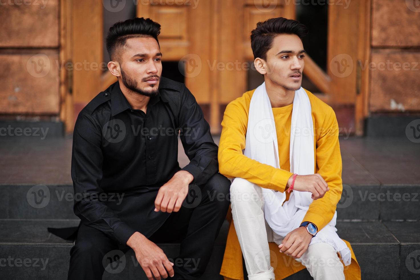
M 341 179 L 342 162 L 339 144 L 339 126 L 336 114 L 331 107 L 326 113 L 323 125 L 316 128 L 315 160 L 316 173 L 327 182 L 330 190 L 324 197 L 314 200 L 304 216 L 303 221 L 310 221 L 318 227 L 318 231 L 333 219 L 336 206 L 341 198 L 343 184 Z M 316 136 L 315 136 L 316 137 Z

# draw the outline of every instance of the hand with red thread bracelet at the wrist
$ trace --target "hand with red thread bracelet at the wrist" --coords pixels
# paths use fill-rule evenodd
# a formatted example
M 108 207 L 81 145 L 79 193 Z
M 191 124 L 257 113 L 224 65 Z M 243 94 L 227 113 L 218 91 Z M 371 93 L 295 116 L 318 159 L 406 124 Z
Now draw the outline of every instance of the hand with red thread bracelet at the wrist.
M 290 187 L 292 181 L 293 175 L 289 178 L 289 181 L 287 181 L 287 187 Z M 313 200 L 324 197 L 325 192 L 330 190 L 327 182 L 325 182 L 319 173 L 297 175 L 294 180 L 293 189 L 300 192 L 311 192 Z

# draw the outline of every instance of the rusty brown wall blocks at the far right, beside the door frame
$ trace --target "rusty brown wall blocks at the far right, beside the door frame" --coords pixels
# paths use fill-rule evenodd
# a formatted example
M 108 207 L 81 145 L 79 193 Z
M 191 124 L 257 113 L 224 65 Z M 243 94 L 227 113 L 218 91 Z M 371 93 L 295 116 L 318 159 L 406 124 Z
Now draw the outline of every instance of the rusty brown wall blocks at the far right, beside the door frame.
M 420 112 L 420 4 L 373 0 L 370 112 Z

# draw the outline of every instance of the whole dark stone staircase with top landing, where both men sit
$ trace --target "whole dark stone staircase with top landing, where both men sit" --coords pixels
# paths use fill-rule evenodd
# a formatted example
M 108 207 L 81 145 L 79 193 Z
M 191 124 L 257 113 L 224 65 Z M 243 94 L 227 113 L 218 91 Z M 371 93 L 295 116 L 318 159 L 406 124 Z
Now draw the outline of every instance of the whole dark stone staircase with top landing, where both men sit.
M 362 279 L 420 279 L 420 147 L 407 139 L 352 137 L 340 139 L 340 147 L 344 189 L 337 229 L 352 244 Z M 3 138 L 0 155 L 0 279 L 66 279 L 73 243 L 47 227 L 79 224 L 69 179 L 71 139 Z M 179 162 L 186 164 L 184 155 Z M 227 231 L 226 221 L 203 280 L 223 279 Z M 158 245 L 176 257 L 178 244 Z M 127 252 L 103 279 L 147 279 L 134 260 Z M 286 279 L 312 278 L 304 269 Z

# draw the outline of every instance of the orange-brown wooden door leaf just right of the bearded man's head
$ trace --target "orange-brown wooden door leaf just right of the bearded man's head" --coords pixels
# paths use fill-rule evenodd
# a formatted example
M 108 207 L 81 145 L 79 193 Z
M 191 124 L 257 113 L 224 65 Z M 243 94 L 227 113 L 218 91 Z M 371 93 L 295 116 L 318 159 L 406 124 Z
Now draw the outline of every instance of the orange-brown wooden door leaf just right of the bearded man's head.
M 165 61 L 180 61 L 180 70 L 185 69 L 185 83 L 197 102 L 210 102 L 210 59 L 211 3 L 201 1 L 195 7 L 191 1 L 159 1 L 158 4 L 141 1 L 137 16 L 149 17 L 161 25 L 160 49 Z

